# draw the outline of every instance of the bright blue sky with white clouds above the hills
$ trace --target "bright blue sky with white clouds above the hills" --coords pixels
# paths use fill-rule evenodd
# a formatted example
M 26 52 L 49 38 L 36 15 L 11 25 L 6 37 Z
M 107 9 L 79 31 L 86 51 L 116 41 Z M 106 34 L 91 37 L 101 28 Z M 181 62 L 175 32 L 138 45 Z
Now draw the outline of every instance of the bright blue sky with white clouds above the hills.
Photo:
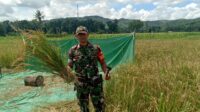
M 0 0 L 0 21 L 33 20 L 40 10 L 46 20 L 77 16 L 143 21 L 200 17 L 200 0 Z

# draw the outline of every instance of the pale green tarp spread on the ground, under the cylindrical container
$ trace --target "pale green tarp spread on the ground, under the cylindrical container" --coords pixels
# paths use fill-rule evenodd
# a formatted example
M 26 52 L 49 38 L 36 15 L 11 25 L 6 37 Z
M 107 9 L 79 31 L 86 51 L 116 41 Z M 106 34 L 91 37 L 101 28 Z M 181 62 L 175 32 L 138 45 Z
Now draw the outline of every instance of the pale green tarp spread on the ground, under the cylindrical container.
M 26 76 L 37 75 L 45 77 L 44 87 L 24 86 L 23 80 Z M 3 74 L 0 79 L 0 112 L 34 112 L 37 108 L 75 98 L 73 86 L 59 77 L 52 78 L 52 74 L 27 71 Z

